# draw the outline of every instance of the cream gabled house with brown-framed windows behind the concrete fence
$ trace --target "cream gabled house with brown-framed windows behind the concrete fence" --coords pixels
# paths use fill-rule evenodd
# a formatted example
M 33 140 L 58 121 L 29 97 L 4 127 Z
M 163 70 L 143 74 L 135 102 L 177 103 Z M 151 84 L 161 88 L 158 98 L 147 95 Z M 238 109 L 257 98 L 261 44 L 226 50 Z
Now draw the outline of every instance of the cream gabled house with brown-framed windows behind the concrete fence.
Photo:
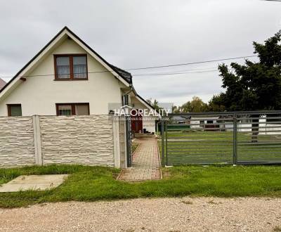
M 136 93 L 129 72 L 108 63 L 67 27 L 0 90 L 0 116 L 108 115 L 110 105 L 154 110 Z M 154 118 L 138 116 L 131 129 L 154 133 Z

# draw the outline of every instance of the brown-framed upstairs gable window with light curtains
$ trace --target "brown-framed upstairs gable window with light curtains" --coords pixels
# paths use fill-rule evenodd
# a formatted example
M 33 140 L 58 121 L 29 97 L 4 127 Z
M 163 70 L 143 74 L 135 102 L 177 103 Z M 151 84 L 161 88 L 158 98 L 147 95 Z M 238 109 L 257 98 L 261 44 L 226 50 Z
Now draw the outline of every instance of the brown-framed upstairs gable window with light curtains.
M 86 55 L 55 55 L 55 79 L 88 79 Z

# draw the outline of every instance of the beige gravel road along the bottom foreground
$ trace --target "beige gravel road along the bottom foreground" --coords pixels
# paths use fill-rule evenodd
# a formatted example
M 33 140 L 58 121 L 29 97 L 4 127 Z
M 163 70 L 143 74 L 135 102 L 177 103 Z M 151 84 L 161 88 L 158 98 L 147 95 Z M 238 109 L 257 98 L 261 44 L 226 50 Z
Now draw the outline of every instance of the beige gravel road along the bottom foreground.
M 0 209 L 0 231 L 277 231 L 280 198 L 157 198 Z

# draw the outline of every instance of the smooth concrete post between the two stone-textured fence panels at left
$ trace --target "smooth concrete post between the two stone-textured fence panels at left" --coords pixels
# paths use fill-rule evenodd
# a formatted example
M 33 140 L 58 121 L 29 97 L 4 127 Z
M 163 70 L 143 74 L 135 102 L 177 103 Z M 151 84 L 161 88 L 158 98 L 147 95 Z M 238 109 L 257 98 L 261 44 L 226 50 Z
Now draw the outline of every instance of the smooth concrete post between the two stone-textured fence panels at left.
M 33 138 L 34 138 L 34 155 L 35 164 L 43 165 L 42 150 L 41 150 L 41 131 L 39 115 L 32 116 L 33 121 Z

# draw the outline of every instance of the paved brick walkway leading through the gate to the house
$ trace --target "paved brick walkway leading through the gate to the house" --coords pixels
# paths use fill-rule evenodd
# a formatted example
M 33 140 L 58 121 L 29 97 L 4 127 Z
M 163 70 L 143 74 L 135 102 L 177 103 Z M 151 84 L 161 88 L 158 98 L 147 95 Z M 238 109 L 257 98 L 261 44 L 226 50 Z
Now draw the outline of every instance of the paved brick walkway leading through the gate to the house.
M 160 179 L 156 138 L 137 138 L 134 143 L 140 144 L 133 154 L 132 167 L 122 170 L 119 180 L 145 181 Z

